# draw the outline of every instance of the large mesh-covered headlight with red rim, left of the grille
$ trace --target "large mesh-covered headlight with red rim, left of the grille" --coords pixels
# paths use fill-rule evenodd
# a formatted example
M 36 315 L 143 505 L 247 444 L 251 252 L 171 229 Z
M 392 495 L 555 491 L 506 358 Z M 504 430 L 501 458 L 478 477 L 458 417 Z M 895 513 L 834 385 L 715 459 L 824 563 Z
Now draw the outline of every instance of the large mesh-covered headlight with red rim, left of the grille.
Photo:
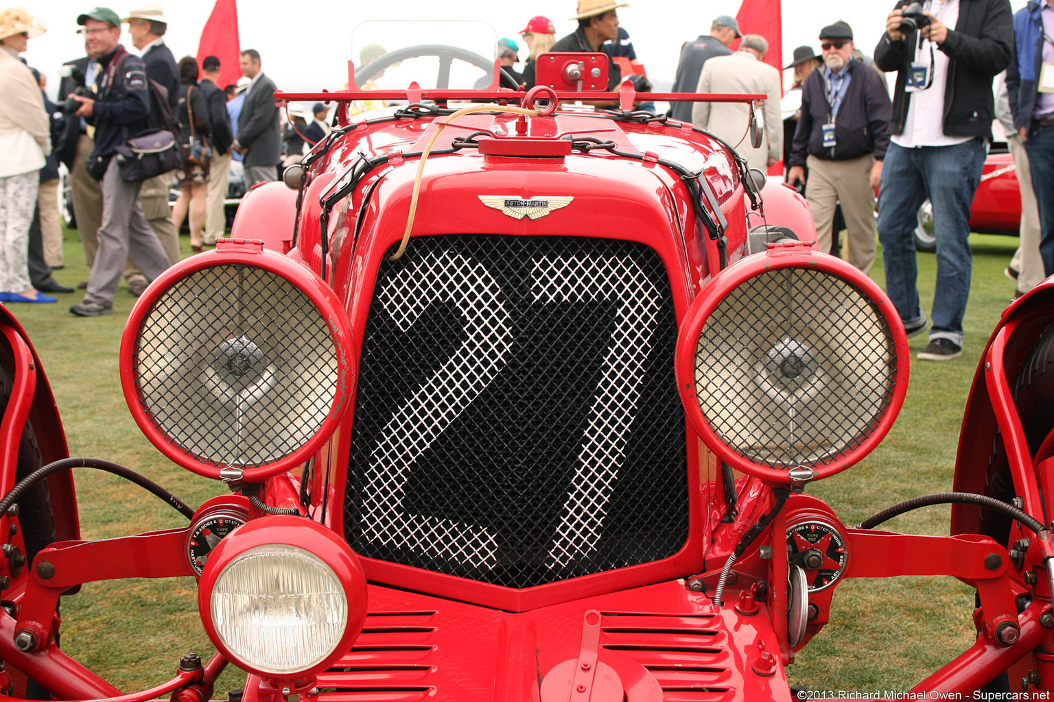
M 332 290 L 286 257 L 246 248 L 195 257 L 148 288 L 121 375 L 136 421 L 173 461 L 259 480 L 332 434 L 354 374 Z

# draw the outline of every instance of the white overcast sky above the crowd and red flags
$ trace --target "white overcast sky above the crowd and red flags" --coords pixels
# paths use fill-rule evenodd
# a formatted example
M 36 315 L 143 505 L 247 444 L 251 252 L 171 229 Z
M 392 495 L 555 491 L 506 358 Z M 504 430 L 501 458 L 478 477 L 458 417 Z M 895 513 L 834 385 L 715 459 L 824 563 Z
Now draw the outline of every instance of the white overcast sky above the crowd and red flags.
M 19 0 L 15 0 L 19 1 Z M 98 0 L 103 1 L 103 0 Z M 84 55 L 77 29 L 77 15 L 94 6 L 74 0 L 21 0 L 30 12 L 40 17 L 47 33 L 30 40 L 25 58 L 30 65 L 48 75 L 50 93 L 57 86 L 56 67 Z M 134 3 L 115 0 L 114 11 L 124 15 Z M 1011 0 L 1014 9 L 1026 0 Z M 619 9 L 622 26 L 633 40 L 638 58 L 644 62 L 656 89 L 667 89 L 677 71 L 681 44 L 709 32 L 710 20 L 718 15 L 735 16 L 738 0 L 699 0 L 696 2 L 630 2 Z M 809 44 L 819 52 L 817 36 L 825 24 L 842 19 L 856 34 L 857 46 L 871 55 L 881 37 L 892 0 L 783 0 L 783 64 L 790 62 L 796 46 Z M 213 0 L 163 0 L 169 20 L 167 43 L 178 60 L 197 53 L 201 27 L 212 12 Z M 264 72 L 281 89 L 337 89 L 347 79 L 347 61 L 352 53 L 352 33 L 366 20 L 399 18 L 437 20 L 480 20 L 489 23 L 496 37 L 519 41 L 519 31 L 533 15 L 545 15 L 557 25 L 557 35 L 574 29 L 568 18 L 574 15 L 574 0 L 534 0 L 533 2 L 494 2 L 494 0 L 398 0 L 397 2 L 276 2 L 238 0 L 239 39 L 242 47 L 253 47 L 262 55 Z M 521 9 L 522 8 L 522 9 Z M 456 32 L 451 36 L 430 38 L 432 43 L 460 44 Z M 126 35 L 125 45 L 131 46 Z M 362 33 L 355 44 L 362 45 Z M 389 51 L 394 46 L 387 46 Z M 476 47 L 472 47 L 476 48 Z M 484 53 L 482 47 L 476 48 Z M 521 52 L 521 56 L 525 56 Z M 784 77 L 789 80 L 789 73 Z

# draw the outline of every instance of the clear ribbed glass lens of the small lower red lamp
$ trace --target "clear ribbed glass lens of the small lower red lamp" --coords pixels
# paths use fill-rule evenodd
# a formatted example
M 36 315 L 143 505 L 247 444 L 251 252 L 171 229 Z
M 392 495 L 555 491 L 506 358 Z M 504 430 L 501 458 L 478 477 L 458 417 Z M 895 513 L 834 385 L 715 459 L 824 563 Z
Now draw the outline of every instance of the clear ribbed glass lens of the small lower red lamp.
M 216 578 L 210 609 L 231 654 L 276 675 L 306 670 L 325 659 L 348 625 L 347 596 L 333 569 L 286 544 L 235 557 Z

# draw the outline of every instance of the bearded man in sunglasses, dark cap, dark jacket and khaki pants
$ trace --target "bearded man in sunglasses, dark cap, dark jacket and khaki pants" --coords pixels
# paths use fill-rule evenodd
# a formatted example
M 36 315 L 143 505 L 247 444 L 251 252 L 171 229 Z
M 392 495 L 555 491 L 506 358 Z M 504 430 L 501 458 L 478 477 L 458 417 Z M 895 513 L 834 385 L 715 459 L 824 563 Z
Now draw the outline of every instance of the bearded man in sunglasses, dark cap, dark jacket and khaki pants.
M 878 73 L 853 59 L 853 31 L 836 23 L 820 32 L 823 67 L 802 85 L 787 181 L 805 180 L 820 250 L 831 250 L 840 202 L 846 257 L 864 274 L 875 263 L 875 188 L 890 145 L 890 95 Z

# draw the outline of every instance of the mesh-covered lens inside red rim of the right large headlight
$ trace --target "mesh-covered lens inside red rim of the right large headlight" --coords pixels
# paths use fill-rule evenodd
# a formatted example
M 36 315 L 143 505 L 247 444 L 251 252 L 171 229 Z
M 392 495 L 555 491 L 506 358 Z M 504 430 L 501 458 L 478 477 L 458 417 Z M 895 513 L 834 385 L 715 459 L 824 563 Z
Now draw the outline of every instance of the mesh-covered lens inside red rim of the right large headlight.
M 722 300 L 696 350 L 696 395 L 718 437 L 759 465 L 820 467 L 853 452 L 893 397 L 893 335 L 834 275 L 780 268 Z

